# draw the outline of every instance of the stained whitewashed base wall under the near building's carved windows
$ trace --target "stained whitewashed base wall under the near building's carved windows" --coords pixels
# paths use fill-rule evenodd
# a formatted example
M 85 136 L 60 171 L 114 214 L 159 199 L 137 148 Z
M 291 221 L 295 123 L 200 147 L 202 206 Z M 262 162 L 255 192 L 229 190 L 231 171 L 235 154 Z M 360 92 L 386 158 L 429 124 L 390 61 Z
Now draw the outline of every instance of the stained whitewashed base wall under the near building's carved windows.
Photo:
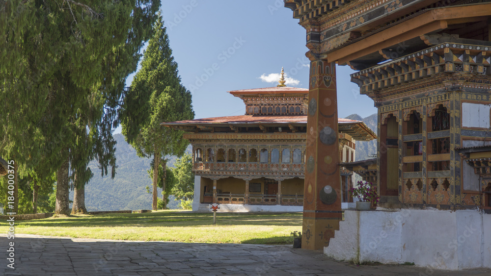
M 491 215 L 478 210 L 346 210 L 324 253 L 338 260 L 448 270 L 491 268 L 489 229 Z

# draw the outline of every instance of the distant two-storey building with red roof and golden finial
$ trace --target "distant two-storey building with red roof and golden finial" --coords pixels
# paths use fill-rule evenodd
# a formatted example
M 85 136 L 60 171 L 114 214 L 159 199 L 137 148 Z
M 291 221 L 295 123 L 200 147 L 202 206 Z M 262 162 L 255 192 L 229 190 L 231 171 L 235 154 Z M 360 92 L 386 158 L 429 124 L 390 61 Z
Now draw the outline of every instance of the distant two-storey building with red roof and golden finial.
M 303 210 L 308 89 L 286 86 L 283 74 L 275 87 L 228 92 L 244 100 L 245 115 L 162 124 L 188 132 L 194 211 L 208 210 L 209 203 L 219 203 L 220 211 Z M 353 162 L 355 141 L 376 135 L 361 121 L 337 121 L 338 158 Z M 337 193 L 345 203 L 353 202 L 352 175 L 339 176 Z

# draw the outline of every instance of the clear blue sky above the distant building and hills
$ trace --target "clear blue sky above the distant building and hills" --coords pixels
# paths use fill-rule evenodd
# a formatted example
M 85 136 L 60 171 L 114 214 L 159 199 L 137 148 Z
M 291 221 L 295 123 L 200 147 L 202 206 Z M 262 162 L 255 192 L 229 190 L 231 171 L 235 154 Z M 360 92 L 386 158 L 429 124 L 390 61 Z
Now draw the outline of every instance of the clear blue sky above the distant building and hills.
M 282 0 L 162 0 L 161 11 L 196 119 L 244 115 L 244 102 L 226 92 L 276 86 L 281 67 L 288 86 L 308 88 L 305 29 Z M 377 112 L 350 82 L 354 72 L 337 67 L 340 118 Z

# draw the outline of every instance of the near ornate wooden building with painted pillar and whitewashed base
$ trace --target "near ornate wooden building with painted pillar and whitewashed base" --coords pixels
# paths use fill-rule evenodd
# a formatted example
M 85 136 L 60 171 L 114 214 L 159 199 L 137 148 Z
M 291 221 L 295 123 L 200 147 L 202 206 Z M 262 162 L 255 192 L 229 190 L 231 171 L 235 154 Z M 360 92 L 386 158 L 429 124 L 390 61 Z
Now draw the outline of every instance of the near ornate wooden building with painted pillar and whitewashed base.
M 315 169 L 305 187 L 316 200 L 304 205 L 302 247 L 345 260 L 491 267 L 491 2 L 284 2 L 311 61 L 306 158 Z M 341 163 L 337 140 L 323 139 L 326 127 L 336 132 L 335 64 L 357 71 L 352 81 L 378 108 L 377 159 L 350 167 L 376 162 L 385 208 L 346 211 L 341 228 L 340 200 L 322 200 L 340 187 L 340 170 L 323 162 Z

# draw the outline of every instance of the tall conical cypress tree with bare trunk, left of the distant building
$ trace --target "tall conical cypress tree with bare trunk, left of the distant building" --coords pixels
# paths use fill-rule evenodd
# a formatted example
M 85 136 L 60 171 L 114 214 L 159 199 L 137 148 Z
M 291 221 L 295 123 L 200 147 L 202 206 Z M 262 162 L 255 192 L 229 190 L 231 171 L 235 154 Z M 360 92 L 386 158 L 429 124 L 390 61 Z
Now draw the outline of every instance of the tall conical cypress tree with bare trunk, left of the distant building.
M 141 69 L 133 78 L 124 100 L 121 117 L 122 133 L 138 156 L 153 155 L 153 210 L 157 209 L 161 159 L 169 154 L 181 156 L 189 143 L 182 138 L 182 131 L 163 127 L 161 123 L 193 118 L 191 92 L 181 84 L 164 21 L 159 13 L 153 35 L 143 54 Z M 165 161 L 162 167 L 165 172 Z M 165 182 L 163 188 L 165 190 Z

